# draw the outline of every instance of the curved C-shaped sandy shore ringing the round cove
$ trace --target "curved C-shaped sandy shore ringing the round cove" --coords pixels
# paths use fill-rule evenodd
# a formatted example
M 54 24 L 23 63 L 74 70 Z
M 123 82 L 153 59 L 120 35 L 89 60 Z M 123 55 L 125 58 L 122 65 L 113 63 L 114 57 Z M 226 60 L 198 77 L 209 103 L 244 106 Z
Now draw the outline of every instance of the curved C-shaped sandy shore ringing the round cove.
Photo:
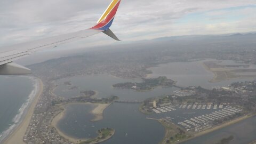
M 66 105 L 71 105 L 74 103 L 68 103 Z M 111 103 L 107 103 L 107 104 L 101 104 L 101 103 L 79 103 L 77 102 L 77 104 L 81 104 L 81 105 L 86 105 L 86 104 L 90 104 L 90 105 L 94 105 L 97 106 L 95 107 L 92 111 L 90 111 L 91 114 L 94 115 L 94 119 L 92 119 L 92 122 L 96 122 L 96 121 L 100 121 L 101 119 L 103 119 L 103 111 L 111 104 Z M 69 141 L 73 142 L 73 143 L 78 143 L 79 141 L 86 141 L 87 139 L 78 139 L 78 138 L 74 138 L 74 137 L 70 137 L 69 135 L 61 132 L 58 129 L 58 123 L 60 121 L 60 119 L 62 119 L 65 114 L 66 114 L 66 108 L 65 105 L 61 105 L 60 107 L 62 107 L 64 110 L 61 111 L 58 115 L 56 115 L 51 122 L 51 126 L 55 127 L 55 129 L 57 130 L 57 132 L 64 138 L 68 139 Z

